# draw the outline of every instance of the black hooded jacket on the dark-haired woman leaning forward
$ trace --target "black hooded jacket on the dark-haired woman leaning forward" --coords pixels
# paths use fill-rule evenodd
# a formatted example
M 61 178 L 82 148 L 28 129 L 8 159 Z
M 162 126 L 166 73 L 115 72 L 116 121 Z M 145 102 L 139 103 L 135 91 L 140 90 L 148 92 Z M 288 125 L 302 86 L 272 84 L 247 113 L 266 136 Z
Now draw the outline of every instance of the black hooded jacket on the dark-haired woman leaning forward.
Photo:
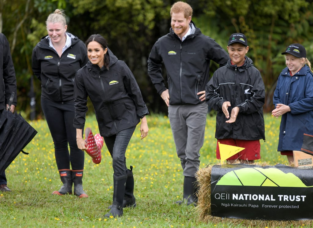
M 101 136 L 115 135 L 136 126 L 148 115 L 134 75 L 124 61 L 108 49 L 109 70 L 90 61 L 75 76 L 75 117 L 73 126 L 83 129 L 87 112 L 87 96 L 94 109 Z

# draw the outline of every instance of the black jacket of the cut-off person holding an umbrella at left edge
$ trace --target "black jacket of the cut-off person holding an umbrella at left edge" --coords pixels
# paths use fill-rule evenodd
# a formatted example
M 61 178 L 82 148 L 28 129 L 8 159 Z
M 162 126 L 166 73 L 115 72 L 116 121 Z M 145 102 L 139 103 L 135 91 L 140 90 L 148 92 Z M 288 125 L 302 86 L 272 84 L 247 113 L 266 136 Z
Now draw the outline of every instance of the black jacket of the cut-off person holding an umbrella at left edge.
M 8 39 L 4 34 L 0 33 L 0 110 L 6 108 L 6 104 L 10 103 L 10 97 L 14 92 L 12 105 L 17 104 L 16 77 L 14 65 L 10 52 Z

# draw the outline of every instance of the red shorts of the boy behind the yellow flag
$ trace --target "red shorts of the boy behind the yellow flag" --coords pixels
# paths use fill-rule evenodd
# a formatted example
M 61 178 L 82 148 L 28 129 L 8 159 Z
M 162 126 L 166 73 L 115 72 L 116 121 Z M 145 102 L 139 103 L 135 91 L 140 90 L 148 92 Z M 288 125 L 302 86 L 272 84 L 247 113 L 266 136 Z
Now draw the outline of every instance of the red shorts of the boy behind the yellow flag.
M 229 145 L 229 146 L 245 148 L 244 150 L 240 151 L 239 153 L 236 153 L 235 155 L 231 156 L 230 158 L 227 158 L 226 160 L 236 160 L 236 159 L 258 160 L 261 158 L 260 140 L 242 140 L 242 139 L 232 139 L 232 138 L 218 139 L 217 145 L 216 145 L 216 158 L 221 159 L 221 155 L 219 153 L 218 142 Z

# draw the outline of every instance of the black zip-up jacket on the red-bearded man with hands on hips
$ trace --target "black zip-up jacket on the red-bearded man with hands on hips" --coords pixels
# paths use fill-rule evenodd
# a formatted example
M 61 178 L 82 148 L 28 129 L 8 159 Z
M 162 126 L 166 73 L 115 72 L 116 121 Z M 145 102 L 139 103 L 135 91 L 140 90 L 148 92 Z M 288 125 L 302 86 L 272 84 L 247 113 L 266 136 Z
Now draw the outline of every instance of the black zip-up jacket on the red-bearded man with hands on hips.
M 203 35 L 192 21 L 189 25 L 192 34 L 183 42 L 170 28 L 170 33 L 153 45 L 148 59 L 148 74 L 160 95 L 167 89 L 161 70 L 163 62 L 171 105 L 201 103 L 197 93 L 204 91 L 208 83 L 210 60 L 223 66 L 229 59 L 214 39 Z

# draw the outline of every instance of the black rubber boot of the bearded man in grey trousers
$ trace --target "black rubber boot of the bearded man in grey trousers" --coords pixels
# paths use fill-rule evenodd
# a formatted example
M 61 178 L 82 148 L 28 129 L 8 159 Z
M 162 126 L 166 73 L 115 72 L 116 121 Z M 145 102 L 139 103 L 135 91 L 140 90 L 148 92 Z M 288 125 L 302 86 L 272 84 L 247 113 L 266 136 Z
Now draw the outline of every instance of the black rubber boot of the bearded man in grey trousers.
M 186 204 L 196 206 L 198 202 L 197 197 L 198 184 L 195 177 L 184 177 L 184 193 L 183 200 L 176 201 L 177 204 Z

